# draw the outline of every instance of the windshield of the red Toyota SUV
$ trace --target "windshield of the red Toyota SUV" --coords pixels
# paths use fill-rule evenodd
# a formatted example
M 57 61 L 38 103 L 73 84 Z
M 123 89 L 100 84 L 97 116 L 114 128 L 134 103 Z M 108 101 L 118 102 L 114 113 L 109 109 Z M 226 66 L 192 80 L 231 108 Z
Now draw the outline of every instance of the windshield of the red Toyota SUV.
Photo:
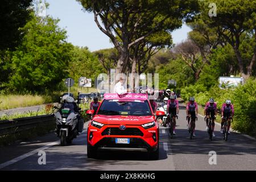
M 147 101 L 104 100 L 97 114 L 103 115 L 152 115 Z

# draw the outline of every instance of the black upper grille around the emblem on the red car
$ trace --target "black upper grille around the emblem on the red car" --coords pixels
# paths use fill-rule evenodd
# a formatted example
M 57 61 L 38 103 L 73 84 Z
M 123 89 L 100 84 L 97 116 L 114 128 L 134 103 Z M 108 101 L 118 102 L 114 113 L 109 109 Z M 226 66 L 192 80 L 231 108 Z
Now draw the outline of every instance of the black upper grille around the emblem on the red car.
M 127 127 L 125 130 L 120 130 L 118 127 L 108 127 L 101 133 L 101 135 L 135 135 L 142 137 L 143 133 L 135 127 Z

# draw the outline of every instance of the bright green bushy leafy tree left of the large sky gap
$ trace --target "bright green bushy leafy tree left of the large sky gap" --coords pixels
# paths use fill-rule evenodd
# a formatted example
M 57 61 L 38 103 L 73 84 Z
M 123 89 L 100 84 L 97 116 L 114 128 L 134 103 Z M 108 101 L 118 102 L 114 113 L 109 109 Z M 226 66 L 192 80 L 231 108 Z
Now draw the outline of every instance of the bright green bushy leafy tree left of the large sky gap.
M 22 28 L 23 42 L 13 53 L 14 74 L 9 86 L 18 92 L 55 90 L 68 77 L 73 46 L 65 41 L 67 32 L 57 26 L 59 20 L 31 16 Z

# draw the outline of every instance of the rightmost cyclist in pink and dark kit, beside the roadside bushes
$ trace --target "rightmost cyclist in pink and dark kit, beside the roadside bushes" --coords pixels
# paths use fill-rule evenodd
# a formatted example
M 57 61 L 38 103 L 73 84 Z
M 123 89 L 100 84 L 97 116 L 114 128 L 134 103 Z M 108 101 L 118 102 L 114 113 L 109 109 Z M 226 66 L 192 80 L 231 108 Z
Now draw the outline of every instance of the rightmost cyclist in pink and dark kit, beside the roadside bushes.
M 230 134 L 230 118 L 234 116 L 234 106 L 231 104 L 230 100 L 226 102 L 221 107 L 221 133 L 223 132 L 223 125 L 225 118 L 228 118 L 228 134 Z

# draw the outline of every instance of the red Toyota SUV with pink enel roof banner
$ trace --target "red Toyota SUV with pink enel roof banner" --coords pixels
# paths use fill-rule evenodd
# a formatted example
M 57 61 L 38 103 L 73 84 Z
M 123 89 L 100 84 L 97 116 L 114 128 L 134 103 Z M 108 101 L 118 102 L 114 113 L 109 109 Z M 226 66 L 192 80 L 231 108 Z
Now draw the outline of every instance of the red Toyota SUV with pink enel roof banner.
M 159 125 L 147 94 L 105 93 L 89 122 L 87 143 L 88 158 L 95 158 L 97 150 L 125 150 L 145 151 L 158 159 Z

